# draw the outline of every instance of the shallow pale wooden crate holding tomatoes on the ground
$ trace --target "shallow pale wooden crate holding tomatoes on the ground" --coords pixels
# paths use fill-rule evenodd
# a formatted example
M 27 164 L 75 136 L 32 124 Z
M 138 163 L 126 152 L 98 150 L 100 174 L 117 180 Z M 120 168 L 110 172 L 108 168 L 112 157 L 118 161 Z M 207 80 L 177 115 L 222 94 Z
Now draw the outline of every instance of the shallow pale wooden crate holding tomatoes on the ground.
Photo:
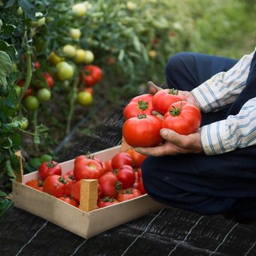
M 114 146 L 98 151 L 94 155 L 102 161 L 107 161 L 119 151 L 120 146 Z M 60 166 L 63 174 L 66 174 L 73 170 L 74 159 L 65 161 Z M 82 180 L 80 208 L 76 208 L 54 196 L 25 185 L 27 181 L 34 178 L 38 178 L 38 171 L 22 175 L 20 180 L 13 182 L 14 205 L 80 235 L 82 238 L 91 238 L 105 230 L 164 207 L 146 194 L 129 201 L 95 209 L 97 206 L 97 180 Z

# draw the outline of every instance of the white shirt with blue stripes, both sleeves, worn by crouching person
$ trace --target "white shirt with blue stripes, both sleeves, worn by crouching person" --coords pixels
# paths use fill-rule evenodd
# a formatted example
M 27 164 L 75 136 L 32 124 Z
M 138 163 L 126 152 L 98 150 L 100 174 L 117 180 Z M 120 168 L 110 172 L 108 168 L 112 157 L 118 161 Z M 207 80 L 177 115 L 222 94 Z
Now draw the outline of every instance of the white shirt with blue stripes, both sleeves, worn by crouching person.
M 214 75 L 191 91 L 202 112 L 215 112 L 235 101 L 246 85 L 254 53 L 244 55 L 233 68 Z M 255 145 L 256 97 L 245 102 L 238 114 L 205 125 L 200 133 L 203 151 L 208 155 Z

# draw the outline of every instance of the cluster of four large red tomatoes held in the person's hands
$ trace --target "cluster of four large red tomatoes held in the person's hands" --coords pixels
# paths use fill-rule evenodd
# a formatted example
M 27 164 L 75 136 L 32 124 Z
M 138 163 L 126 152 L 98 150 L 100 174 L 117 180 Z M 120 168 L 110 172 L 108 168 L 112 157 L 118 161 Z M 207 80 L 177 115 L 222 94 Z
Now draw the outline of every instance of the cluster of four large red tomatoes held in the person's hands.
M 152 114 L 164 115 L 163 119 Z M 134 97 L 124 107 L 123 136 L 130 146 L 158 146 L 163 138 L 162 128 L 172 129 L 178 134 L 188 135 L 198 130 L 201 112 L 191 105 L 178 90 L 165 89 L 156 94 Z

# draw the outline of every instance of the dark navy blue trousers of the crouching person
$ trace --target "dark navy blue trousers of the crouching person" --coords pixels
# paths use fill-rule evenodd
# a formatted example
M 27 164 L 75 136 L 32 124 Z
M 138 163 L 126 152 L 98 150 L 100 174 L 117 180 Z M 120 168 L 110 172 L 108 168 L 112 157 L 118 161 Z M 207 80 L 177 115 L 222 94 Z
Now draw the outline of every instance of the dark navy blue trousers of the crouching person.
M 169 87 L 191 91 L 235 63 L 237 60 L 229 58 L 178 53 L 166 65 L 166 79 Z M 237 114 L 250 97 L 256 97 L 255 81 L 252 79 L 246 85 L 245 93 L 232 105 L 218 112 L 203 113 L 202 125 Z M 250 88 L 252 85 L 255 86 Z M 142 165 L 142 175 L 149 196 L 168 206 L 203 215 L 233 213 L 240 218 L 256 218 L 256 146 L 215 156 L 148 157 Z

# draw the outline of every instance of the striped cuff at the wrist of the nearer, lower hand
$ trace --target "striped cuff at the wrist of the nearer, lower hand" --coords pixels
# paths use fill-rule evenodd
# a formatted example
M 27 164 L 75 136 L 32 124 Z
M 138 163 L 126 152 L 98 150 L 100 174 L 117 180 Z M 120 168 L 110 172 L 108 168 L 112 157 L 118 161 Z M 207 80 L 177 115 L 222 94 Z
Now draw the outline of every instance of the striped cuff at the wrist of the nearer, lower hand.
M 201 127 L 200 135 L 203 151 L 207 155 L 223 154 L 235 149 L 228 139 L 230 132 L 226 120 Z

